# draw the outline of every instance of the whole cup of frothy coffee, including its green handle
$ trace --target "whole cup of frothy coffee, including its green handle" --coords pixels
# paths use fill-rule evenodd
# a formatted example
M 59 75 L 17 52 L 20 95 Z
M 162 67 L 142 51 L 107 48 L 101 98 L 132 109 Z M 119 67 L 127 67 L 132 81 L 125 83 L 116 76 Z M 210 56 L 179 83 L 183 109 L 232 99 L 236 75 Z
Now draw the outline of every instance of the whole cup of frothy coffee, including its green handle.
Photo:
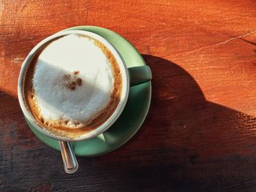
M 89 54 L 84 55 L 83 50 Z M 69 55 L 74 59 L 68 61 Z M 95 58 L 102 58 L 101 65 L 97 66 Z M 80 61 L 92 63 L 82 67 Z M 77 142 L 97 137 L 113 125 L 127 104 L 130 86 L 149 80 L 148 66 L 127 68 L 118 50 L 98 34 L 61 31 L 39 42 L 26 57 L 18 79 L 18 99 L 26 120 L 37 131 L 53 139 Z M 93 90 L 90 96 L 86 95 L 88 90 Z M 75 100 L 78 93 L 79 101 Z M 86 105 L 89 102 L 90 107 Z M 83 116 L 87 119 L 81 123 Z

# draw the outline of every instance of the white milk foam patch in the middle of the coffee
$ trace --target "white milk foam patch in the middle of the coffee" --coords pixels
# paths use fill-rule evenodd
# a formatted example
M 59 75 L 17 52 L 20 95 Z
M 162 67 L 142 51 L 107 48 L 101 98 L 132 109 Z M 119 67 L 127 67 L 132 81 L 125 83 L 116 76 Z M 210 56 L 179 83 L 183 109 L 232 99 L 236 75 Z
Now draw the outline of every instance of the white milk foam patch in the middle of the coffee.
M 79 74 L 72 74 L 76 71 Z M 82 80 L 74 90 L 66 86 L 68 74 L 72 80 Z M 45 121 L 69 120 L 70 127 L 77 123 L 84 126 L 108 105 L 113 74 L 108 58 L 94 40 L 70 34 L 51 42 L 40 53 L 33 85 Z

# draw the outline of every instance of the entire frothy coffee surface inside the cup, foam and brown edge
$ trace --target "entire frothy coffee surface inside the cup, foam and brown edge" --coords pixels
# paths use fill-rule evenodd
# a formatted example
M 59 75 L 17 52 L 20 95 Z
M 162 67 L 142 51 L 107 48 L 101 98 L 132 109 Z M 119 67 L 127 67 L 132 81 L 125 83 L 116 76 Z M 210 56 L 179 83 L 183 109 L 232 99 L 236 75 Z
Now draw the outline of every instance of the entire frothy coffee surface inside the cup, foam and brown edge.
M 41 126 L 75 138 L 110 118 L 121 90 L 121 71 L 108 47 L 97 39 L 69 34 L 49 42 L 34 57 L 24 93 Z

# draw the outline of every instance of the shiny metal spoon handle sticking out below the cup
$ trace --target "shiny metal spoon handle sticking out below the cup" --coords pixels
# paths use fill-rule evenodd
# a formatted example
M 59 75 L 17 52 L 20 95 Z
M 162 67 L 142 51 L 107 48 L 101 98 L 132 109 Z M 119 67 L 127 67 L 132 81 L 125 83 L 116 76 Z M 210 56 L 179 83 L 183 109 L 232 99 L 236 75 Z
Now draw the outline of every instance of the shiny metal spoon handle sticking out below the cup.
M 72 174 L 78 170 L 78 161 L 69 142 L 59 141 L 65 172 Z

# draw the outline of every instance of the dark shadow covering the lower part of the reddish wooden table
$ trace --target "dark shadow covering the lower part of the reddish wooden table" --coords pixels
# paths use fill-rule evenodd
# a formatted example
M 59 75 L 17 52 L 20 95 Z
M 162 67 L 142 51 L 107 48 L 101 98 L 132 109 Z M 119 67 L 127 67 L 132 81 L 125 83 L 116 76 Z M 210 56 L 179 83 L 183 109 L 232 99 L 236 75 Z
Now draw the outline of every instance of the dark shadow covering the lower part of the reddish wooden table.
M 143 58 L 153 73 L 145 123 L 113 153 L 78 158 L 75 174 L 65 174 L 60 153 L 27 131 L 18 99 L 0 92 L 0 190 L 256 188 L 255 117 L 207 101 L 194 78 L 177 64 L 153 55 Z

